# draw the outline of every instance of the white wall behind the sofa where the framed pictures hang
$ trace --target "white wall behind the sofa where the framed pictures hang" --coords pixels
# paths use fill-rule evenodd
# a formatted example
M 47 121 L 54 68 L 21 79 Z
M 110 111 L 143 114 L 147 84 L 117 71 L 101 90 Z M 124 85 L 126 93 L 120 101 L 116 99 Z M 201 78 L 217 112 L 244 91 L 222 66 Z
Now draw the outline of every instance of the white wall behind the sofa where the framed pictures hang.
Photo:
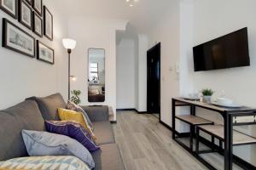
M 2 39 L 2 18 L 7 18 L 36 39 L 55 49 L 55 65 L 49 65 L 7 48 L 0 48 L 0 109 L 15 105 L 33 95 L 46 96 L 61 92 L 67 99 L 67 53 L 61 44 L 61 39 L 67 37 L 67 20 L 64 15 L 53 10 L 55 3 L 44 0 L 44 4 L 54 15 L 53 42 L 46 37 L 37 37 L 18 20 L 0 10 L 0 39 Z

